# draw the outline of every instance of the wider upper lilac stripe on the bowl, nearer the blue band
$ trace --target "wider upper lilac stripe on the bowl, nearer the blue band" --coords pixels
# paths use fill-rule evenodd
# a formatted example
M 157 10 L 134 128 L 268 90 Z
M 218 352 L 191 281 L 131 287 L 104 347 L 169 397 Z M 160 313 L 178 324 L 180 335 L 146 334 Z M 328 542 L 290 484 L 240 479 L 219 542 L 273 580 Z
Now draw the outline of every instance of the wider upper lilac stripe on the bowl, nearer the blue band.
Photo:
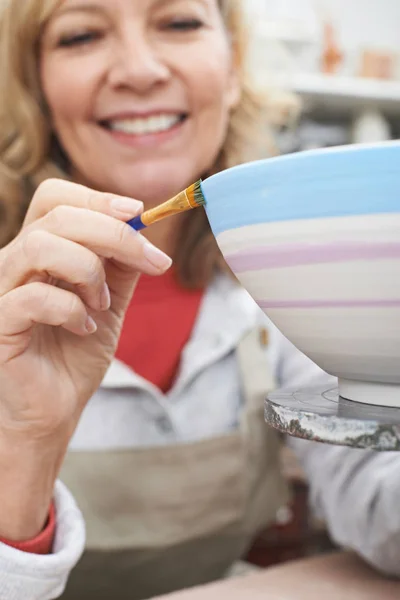
M 235 273 L 280 269 L 310 264 L 400 258 L 400 244 L 334 242 L 329 244 L 279 244 L 259 246 L 228 254 L 226 262 Z

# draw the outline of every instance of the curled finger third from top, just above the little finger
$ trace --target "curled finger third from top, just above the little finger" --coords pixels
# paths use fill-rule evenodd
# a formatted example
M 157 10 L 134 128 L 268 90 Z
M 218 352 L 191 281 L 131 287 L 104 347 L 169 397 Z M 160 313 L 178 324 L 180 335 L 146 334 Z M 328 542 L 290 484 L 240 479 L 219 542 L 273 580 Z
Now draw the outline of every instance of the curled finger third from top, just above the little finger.
M 21 236 L 10 247 L 1 269 L 0 294 L 32 278 L 52 277 L 76 287 L 76 293 L 94 310 L 108 310 L 110 294 L 103 263 L 94 253 L 70 240 L 43 230 Z

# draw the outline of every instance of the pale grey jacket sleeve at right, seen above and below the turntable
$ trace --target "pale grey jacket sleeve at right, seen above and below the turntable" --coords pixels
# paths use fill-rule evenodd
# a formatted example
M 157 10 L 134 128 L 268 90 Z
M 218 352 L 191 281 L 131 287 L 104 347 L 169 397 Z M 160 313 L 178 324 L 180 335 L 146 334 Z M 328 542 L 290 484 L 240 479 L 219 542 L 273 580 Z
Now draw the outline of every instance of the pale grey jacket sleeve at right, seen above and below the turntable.
M 334 379 L 285 338 L 278 380 L 304 387 Z M 332 539 L 383 573 L 400 577 L 400 453 L 373 452 L 290 438 L 310 483 L 310 501 Z

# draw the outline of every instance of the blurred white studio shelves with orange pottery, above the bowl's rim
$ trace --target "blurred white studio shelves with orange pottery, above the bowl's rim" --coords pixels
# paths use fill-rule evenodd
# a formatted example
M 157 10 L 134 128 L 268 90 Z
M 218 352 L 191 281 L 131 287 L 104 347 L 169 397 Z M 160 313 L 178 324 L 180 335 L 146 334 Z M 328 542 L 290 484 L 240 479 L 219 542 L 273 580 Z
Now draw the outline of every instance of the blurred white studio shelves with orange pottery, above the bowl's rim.
M 293 90 L 303 101 L 300 126 L 281 136 L 282 151 L 398 137 L 398 0 L 246 5 L 256 24 L 253 76 L 261 87 Z

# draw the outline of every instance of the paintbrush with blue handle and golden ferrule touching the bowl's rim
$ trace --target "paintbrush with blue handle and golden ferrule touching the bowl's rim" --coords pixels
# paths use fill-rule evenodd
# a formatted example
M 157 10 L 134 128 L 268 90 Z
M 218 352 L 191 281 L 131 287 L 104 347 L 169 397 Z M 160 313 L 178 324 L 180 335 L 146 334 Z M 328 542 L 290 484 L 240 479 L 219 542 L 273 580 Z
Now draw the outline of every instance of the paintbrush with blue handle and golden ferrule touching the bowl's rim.
M 201 188 L 201 180 L 189 186 L 183 192 L 180 192 L 174 198 L 167 200 L 163 204 L 146 210 L 144 213 L 128 221 L 128 225 L 136 231 L 145 229 L 157 221 L 161 221 L 166 217 L 177 215 L 178 213 L 198 208 L 206 204 L 206 199 Z

